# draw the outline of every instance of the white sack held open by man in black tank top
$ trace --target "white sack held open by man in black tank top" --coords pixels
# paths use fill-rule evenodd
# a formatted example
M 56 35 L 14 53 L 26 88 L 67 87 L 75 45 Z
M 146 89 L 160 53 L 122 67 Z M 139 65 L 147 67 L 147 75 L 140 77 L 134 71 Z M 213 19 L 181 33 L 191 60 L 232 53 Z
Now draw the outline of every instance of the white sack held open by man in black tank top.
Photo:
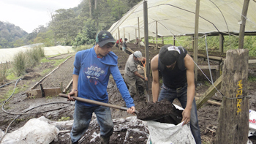
M 150 138 L 148 143 L 153 144 L 194 144 L 195 139 L 188 124 L 182 126 L 183 122 L 178 125 L 159 123 L 156 121 L 147 121 Z

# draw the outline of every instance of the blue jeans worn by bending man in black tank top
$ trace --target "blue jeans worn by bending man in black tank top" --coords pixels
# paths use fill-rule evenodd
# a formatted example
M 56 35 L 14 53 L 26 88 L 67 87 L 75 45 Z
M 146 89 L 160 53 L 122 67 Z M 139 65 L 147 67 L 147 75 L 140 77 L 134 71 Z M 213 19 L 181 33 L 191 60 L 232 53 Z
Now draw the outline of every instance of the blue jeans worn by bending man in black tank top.
M 167 99 L 169 102 L 173 103 L 174 99 L 178 99 L 181 102 L 183 108 L 187 105 L 187 85 L 181 88 L 167 88 L 167 86 L 162 85 L 158 101 L 162 99 Z M 192 103 L 191 115 L 190 115 L 190 129 L 197 144 L 201 143 L 200 129 L 197 119 L 197 105 L 195 104 L 195 99 Z

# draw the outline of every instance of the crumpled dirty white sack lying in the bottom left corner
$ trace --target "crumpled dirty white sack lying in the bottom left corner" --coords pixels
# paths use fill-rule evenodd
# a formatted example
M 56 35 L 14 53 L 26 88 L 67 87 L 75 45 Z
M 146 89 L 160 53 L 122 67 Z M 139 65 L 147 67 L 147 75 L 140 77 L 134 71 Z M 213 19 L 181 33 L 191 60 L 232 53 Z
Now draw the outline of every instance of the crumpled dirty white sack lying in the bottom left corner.
M 58 140 L 59 129 L 39 118 L 32 118 L 23 127 L 7 133 L 1 144 L 49 144 Z

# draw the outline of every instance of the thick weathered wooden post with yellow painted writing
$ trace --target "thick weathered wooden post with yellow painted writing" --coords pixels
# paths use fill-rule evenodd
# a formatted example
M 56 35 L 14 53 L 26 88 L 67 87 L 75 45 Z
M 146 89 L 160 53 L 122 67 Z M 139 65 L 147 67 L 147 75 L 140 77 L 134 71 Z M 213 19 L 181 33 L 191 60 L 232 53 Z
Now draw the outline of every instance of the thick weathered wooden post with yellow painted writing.
M 247 96 L 249 50 L 228 50 L 222 72 L 222 106 L 217 143 L 246 143 L 249 131 Z

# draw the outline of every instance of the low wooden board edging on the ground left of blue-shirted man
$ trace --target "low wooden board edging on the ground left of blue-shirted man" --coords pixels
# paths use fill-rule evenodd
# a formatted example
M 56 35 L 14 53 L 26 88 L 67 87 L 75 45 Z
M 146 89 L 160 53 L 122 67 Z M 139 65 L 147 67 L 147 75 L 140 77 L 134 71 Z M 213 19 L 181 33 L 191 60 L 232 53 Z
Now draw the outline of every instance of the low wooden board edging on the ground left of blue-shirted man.
M 61 88 L 45 88 L 45 97 L 46 96 L 57 96 L 61 93 Z M 39 98 L 42 97 L 41 89 L 33 89 L 30 91 L 26 91 L 27 98 Z

